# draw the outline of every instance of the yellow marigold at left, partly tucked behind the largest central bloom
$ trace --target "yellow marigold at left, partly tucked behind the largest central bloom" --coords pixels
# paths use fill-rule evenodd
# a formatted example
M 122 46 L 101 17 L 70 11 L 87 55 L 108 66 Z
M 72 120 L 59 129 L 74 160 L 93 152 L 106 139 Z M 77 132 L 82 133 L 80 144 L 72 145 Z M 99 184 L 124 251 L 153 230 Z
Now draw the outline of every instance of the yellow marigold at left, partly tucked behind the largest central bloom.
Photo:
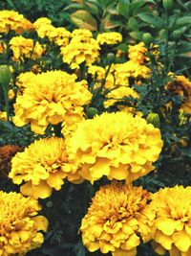
M 23 195 L 32 198 L 48 198 L 53 189 L 60 190 L 64 178 L 79 180 L 76 168 L 68 162 L 63 138 L 51 137 L 34 141 L 23 152 L 17 152 L 11 160 L 13 183 L 21 186 Z

